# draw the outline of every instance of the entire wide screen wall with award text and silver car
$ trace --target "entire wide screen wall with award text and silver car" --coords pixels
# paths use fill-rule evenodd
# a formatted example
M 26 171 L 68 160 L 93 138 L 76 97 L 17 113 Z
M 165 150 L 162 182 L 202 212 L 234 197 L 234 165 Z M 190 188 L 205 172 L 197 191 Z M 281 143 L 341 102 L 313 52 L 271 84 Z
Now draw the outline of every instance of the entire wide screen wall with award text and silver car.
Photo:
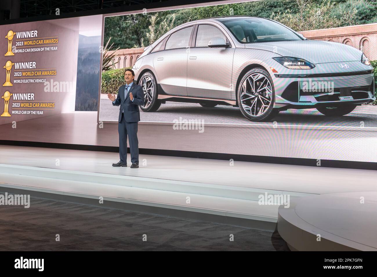
M 2 26 L 3 140 L 376 162 L 377 20 L 365 5 L 224 1 Z M 314 16 L 316 15 L 316 16 Z

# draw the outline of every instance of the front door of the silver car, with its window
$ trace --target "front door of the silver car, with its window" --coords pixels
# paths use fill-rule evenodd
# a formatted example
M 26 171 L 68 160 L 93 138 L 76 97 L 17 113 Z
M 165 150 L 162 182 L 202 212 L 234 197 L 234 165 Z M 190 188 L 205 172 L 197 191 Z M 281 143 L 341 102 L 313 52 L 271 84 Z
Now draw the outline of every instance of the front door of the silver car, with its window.
M 194 34 L 195 36 L 195 34 Z M 214 38 L 224 38 L 224 33 L 211 24 L 199 24 L 187 59 L 187 95 L 205 98 L 231 99 L 231 76 L 234 47 L 210 48 Z

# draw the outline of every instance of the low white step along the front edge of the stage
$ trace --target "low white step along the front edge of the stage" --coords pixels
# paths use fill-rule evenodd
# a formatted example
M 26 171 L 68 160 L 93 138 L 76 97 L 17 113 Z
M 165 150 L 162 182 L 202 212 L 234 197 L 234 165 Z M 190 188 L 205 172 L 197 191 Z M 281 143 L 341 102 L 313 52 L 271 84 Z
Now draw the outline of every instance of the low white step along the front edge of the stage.
M 90 199 L 102 196 L 105 201 L 267 222 L 277 221 L 279 205 L 259 205 L 261 194 L 289 194 L 290 200 L 313 195 L 6 164 L 0 164 L 0 187 L 4 192 L 13 188 Z

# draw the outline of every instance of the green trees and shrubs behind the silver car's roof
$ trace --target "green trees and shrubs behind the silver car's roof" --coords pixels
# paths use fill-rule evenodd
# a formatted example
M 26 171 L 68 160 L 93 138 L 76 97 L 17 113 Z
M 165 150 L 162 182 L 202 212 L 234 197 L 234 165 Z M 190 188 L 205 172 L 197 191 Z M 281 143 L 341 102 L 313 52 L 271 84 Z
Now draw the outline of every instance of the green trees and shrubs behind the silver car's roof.
M 377 21 L 377 0 L 263 0 L 105 17 L 104 41 L 121 49 L 144 47 L 188 21 L 249 15 L 275 19 L 296 31 Z

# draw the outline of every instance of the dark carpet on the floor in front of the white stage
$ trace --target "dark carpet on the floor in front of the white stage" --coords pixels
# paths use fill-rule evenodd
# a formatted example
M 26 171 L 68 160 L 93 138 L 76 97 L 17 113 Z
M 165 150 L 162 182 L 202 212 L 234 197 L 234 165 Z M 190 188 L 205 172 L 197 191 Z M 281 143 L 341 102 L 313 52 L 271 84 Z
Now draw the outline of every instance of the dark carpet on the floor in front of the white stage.
M 57 234 L 60 241 L 55 239 Z M 234 241 L 230 241 L 231 234 Z M 289 251 L 276 231 L 37 197 L 31 197 L 30 208 L 0 206 L 0 248 L 2 251 Z

